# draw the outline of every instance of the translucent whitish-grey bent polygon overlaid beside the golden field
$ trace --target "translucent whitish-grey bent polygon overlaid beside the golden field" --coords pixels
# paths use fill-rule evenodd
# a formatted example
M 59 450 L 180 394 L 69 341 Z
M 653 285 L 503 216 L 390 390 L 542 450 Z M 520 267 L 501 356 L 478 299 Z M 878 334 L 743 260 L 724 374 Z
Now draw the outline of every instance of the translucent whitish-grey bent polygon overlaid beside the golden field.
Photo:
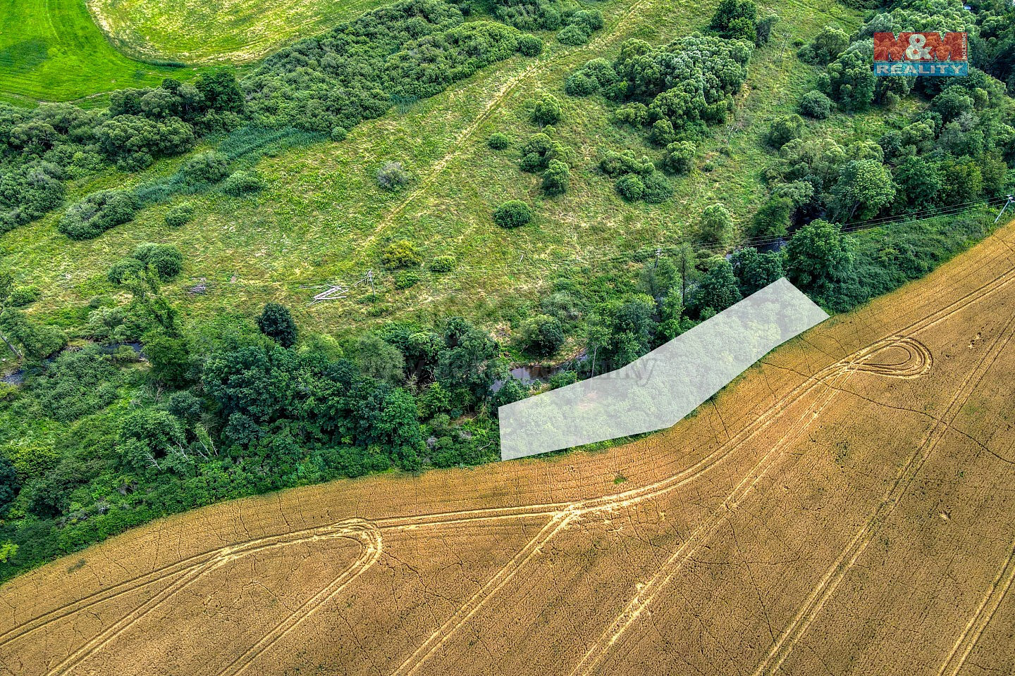
M 623 368 L 500 406 L 500 459 L 672 427 L 827 318 L 788 280 L 772 282 Z

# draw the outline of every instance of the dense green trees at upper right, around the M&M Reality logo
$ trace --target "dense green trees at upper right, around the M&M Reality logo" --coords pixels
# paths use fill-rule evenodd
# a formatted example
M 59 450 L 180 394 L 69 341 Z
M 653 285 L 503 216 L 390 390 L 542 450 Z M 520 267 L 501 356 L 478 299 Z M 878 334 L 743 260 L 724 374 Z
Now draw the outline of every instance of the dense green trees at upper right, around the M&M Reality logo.
M 907 0 L 872 13 L 852 42 L 834 26 L 819 32 L 801 57 L 827 64 L 818 78 L 823 93 L 806 94 L 802 114 L 824 119 L 832 100 L 844 111 L 889 108 L 905 95 L 918 96 L 921 105 L 908 119 L 889 118 L 889 131 L 876 142 L 840 144 L 814 137 L 796 116 L 774 121 L 767 139 L 777 159 L 765 172 L 771 193 L 749 234 L 779 237 L 814 218 L 851 223 L 965 205 L 1006 191 L 1015 164 L 1015 106 L 1002 81 L 974 67 L 967 77 L 919 82 L 878 78 L 871 70 L 875 31 L 968 30 L 976 35 L 983 20 L 958 0 Z

